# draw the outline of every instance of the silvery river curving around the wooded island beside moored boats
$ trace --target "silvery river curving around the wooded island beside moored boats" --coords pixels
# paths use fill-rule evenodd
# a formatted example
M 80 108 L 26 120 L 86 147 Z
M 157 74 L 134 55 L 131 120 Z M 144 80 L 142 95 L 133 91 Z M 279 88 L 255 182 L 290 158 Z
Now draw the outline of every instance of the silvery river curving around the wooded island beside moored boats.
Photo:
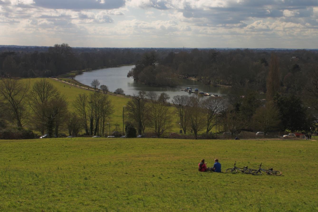
M 134 65 L 126 65 L 115 68 L 103 68 L 98 70 L 93 70 L 89 72 L 84 72 L 77 75 L 75 79 L 80 83 L 85 85 L 90 85 L 93 79 L 98 79 L 100 85 L 107 85 L 109 91 L 114 92 L 117 88 L 122 88 L 125 94 L 133 95 L 138 93 L 138 91 L 154 91 L 158 94 L 161 92 L 166 92 L 170 95 L 171 99 L 176 95 L 191 95 L 187 92 L 180 91 L 186 87 L 191 87 L 192 90 L 198 88 L 199 91 L 207 92 L 210 94 L 225 94 L 225 89 L 219 87 L 212 87 L 209 85 L 204 85 L 202 82 L 198 82 L 190 79 L 176 79 L 176 87 L 157 87 L 148 86 L 138 82 L 135 82 L 133 78 L 127 78 L 127 73 L 134 67 Z M 197 95 L 197 94 L 195 94 Z M 170 99 L 170 102 L 171 102 Z

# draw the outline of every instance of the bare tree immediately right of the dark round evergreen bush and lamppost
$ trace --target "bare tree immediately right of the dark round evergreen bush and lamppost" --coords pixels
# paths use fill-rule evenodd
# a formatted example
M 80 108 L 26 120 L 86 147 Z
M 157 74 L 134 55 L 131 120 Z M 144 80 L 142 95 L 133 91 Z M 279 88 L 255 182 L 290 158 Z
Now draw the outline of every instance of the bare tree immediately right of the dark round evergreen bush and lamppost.
M 147 105 L 145 102 L 146 92 L 140 91 L 133 95 L 133 99 L 128 101 L 126 106 L 126 113 L 130 120 L 135 122 L 137 131 L 142 134 L 145 130 L 145 119 L 147 113 Z

